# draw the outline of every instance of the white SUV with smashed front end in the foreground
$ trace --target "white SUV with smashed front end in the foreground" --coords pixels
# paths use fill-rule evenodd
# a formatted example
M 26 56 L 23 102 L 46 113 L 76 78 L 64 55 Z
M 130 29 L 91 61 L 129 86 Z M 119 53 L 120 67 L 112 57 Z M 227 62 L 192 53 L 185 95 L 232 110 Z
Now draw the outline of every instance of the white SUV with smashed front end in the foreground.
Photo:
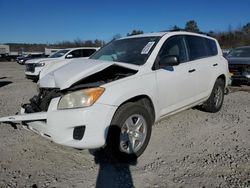
M 110 157 L 131 161 L 163 117 L 197 105 L 219 111 L 228 80 L 228 63 L 211 37 L 136 35 L 50 72 L 21 115 L 0 121 L 21 121 L 58 144 L 103 147 Z

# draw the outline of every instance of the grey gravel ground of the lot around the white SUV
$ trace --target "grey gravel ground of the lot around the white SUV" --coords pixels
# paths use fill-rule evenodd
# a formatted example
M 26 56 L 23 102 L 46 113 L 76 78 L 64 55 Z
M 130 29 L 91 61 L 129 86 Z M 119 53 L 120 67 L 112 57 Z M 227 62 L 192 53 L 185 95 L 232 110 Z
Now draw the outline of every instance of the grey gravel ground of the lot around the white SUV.
M 155 124 L 134 164 L 0 124 L 0 187 L 250 187 L 250 87 L 230 91 L 219 113 L 190 109 Z M 0 62 L 0 117 L 35 93 L 24 66 Z

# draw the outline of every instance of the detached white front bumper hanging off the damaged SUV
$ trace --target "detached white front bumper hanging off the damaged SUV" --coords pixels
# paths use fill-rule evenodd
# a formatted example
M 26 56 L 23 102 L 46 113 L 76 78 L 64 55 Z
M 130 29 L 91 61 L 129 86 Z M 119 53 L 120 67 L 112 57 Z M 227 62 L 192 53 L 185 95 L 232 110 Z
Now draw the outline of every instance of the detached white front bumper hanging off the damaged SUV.
M 53 99 L 47 112 L 4 117 L 0 122 L 21 121 L 27 129 L 74 148 L 99 148 L 105 144 L 117 107 L 95 103 L 87 108 L 57 110 L 58 101 L 59 97 Z

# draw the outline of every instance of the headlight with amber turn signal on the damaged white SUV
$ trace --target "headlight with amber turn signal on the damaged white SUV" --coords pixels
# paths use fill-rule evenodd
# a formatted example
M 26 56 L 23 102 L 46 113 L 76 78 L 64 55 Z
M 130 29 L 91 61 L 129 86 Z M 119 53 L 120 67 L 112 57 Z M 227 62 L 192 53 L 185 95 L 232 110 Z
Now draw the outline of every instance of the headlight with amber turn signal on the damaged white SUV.
M 91 88 L 75 91 L 61 97 L 58 109 L 83 108 L 94 104 L 103 94 L 104 88 Z

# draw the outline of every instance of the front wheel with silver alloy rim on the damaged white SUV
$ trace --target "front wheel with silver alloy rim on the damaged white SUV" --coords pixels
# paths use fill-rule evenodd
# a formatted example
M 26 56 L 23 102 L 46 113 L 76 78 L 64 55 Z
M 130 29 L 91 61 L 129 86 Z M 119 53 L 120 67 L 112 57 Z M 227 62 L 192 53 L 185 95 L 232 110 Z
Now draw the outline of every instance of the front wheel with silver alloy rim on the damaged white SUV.
M 148 145 L 152 124 L 150 113 L 142 105 L 122 105 L 112 119 L 105 153 L 115 162 L 135 161 Z

